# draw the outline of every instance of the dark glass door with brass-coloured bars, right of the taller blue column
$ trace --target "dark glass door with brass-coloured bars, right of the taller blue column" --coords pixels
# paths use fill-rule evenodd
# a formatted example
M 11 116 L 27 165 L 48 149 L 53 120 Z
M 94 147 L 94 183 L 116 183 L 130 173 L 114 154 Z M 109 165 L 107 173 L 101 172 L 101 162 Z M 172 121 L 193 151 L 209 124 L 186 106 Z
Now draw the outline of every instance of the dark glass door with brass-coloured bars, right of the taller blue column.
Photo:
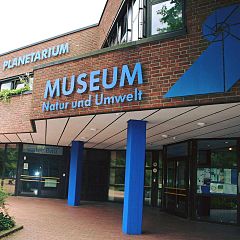
M 165 207 L 170 213 L 188 216 L 187 158 L 167 160 L 167 181 L 164 187 Z

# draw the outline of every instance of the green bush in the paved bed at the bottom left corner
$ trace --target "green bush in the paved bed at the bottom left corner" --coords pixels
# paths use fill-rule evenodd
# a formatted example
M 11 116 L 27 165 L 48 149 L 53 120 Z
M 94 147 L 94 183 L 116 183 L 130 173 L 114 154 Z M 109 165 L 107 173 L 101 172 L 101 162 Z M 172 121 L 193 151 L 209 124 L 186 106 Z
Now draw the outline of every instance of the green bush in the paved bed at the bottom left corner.
M 8 194 L 0 188 L 0 231 L 8 230 L 15 226 L 15 221 L 7 213 L 5 202 Z

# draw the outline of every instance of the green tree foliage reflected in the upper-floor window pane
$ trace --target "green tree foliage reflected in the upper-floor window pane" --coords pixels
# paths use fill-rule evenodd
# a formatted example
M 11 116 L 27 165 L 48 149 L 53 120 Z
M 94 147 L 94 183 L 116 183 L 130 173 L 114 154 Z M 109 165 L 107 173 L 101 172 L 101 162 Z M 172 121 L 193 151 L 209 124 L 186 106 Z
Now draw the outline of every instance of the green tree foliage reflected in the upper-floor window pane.
M 182 0 L 171 0 L 171 4 L 174 4 L 171 8 L 163 5 L 157 12 L 161 15 L 160 22 L 166 24 L 166 27 L 158 28 L 159 33 L 175 31 L 183 27 Z

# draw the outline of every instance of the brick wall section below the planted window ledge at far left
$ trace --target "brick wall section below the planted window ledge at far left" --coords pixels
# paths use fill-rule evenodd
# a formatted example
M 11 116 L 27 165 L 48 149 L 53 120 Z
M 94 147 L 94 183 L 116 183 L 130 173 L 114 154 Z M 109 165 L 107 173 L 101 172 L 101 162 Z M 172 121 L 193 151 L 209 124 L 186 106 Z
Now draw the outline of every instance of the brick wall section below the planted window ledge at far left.
M 0 103 L 0 133 L 32 132 L 30 113 L 32 94 L 12 97 L 9 103 Z

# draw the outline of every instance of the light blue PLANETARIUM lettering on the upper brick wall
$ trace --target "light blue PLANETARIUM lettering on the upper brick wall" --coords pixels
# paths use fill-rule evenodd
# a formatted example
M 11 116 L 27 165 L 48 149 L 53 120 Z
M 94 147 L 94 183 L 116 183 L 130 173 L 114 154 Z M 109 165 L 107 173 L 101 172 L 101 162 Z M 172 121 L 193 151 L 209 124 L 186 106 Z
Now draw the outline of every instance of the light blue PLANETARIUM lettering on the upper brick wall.
M 37 62 L 40 60 L 57 57 L 69 53 L 68 43 L 63 43 L 54 47 L 43 49 L 42 51 L 32 52 L 21 57 L 13 58 L 12 60 L 3 62 L 3 70 L 19 67 L 29 63 Z

